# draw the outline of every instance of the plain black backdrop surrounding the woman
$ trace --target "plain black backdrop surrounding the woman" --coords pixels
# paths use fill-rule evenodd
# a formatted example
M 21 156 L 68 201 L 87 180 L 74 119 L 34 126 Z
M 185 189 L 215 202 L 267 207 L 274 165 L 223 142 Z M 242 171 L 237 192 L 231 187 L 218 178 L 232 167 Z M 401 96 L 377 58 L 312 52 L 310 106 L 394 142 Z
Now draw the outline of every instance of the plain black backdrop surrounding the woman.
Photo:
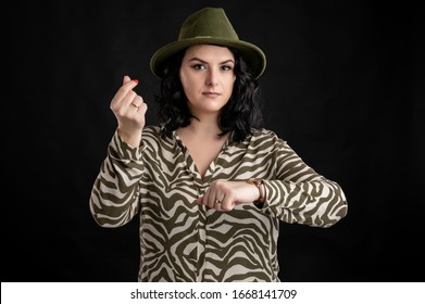
M 376 1 L 18 1 L 5 11 L 2 281 L 135 281 L 138 220 L 98 227 L 91 185 L 128 74 L 157 123 L 152 53 L 222 7 L 267 55 L 266 125 L 338 181 L 348 216 L 282 224 L 284 281 L 423 281 L 424 12 Z M 382 4 L 380 4 L 382 3 Z

